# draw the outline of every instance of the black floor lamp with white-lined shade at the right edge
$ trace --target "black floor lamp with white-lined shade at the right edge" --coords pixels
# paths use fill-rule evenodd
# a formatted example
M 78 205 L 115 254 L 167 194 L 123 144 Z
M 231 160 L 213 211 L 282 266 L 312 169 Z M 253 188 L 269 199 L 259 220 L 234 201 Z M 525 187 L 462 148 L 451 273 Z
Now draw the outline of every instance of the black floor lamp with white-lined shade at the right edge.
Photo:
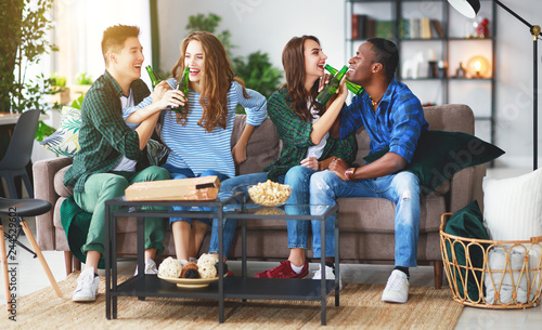
M 478 11 L 480 10 L 480 1 L 479 0 L 448 0 L 448 2 L 461 14 L 467 16 L 468 18 L 476 17 Z M 540 37 L 540 25 L 532 25 L 525 21 L 521 16 L 516 14 L 505 4 L 503 4 L 499 0 L 493 0 L 496 4 L 499 4 L 502 9 L 507 11 L 511 15 L 519 19 L 521 23 L 529 27 L 529 31 L 532 36 L 532 58 L 533 58 L 533 67 L 532 67 L 532 161 L 533 169 L 538 168 L 538 43 L 537 41 L 541 39 Z

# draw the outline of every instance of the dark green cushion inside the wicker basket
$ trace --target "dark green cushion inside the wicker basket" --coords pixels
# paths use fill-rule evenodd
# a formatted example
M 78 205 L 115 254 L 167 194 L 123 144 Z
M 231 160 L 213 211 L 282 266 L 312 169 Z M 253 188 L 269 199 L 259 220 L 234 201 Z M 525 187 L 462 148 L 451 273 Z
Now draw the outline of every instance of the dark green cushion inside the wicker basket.
M 489 239 L 488 232 L 483 226 L 483 216 L 481 215 L 480 208 L 478 207 L 478 201 L 473 201 L 465 208 L 459 210 L 453 213 L 453 215 L 448 220 L 444 228 L 444 233 L 460 236 L 464 238 L 476 238 L 476 239 Z M 449 261 L 452 262 L 452 247 L 450 242 L 447 241 L 446 249 L 448 251 Z M 455 252 L 455 264 L 466 266 L 466 258 L 465 258 L 465 246 L 456 241 L 454 243 L 454 252 Z M 488 245 L 473 245 L 468 247 L 468 254 L 470 255 L 470 264 L 475 268 L 483 267 L 483 250 L 488 248 Z M 467 294 L 468 298 L 476 302 L 480 298 L 480 290 L 478 289 L 478 285 L 483 289 L 481 285 L 482 273 L 480 270 L 468 270 L 462 267 L 454 267 L 453 272 L 455 273 L 457 291 L 462 299 L 465 299 L 463 282 L 461 279 L 466 278 L 467 283 Z M 451 280 L 451 279 L 450 279 Z

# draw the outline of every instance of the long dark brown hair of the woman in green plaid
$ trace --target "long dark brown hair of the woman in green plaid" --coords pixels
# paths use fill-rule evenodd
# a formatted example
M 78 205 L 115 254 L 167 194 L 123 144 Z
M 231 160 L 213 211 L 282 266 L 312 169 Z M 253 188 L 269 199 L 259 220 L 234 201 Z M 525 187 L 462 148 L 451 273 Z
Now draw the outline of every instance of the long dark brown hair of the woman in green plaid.
M 287 89 L 286 100 L 291 102 L 291 108 L 299 118 L 306 121 L 312 119 L 310 111 L 312 108 L 318 109 L 320 116 L 325 111 L 324 107 L 314 103 L 319 81 L 314 82 L 310 91 L 305 89 L 305 78 L 307 76 L 305 72 L 305 41 L 309 39 L 320 44 L 320 40 L 314 36 L 294 37 L 282 51 L 282 65 L 286 74 L 286 83 L 281 89 Z M 307 105 L 308 102 L 310 102 L 310 106 Z

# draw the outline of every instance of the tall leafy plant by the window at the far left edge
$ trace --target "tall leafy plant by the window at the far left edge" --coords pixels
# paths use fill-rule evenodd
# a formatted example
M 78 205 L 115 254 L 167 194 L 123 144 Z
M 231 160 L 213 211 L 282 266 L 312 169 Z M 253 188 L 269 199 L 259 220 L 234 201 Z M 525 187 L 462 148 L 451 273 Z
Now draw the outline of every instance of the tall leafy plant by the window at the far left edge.
M 47 35 L 52 28 L 48 12 L 53 0 L 0 1 L 0 113 L 22 113 L 40 109 L 43 114 L 53 106 L 48 102 L 53 93 L 51 78 L 43 74 L 27 77 L 27 68 L 39 63 L 41 55 L 57 48 Z M 37 136 L 54 131 L 40 122 Z M 41 134 L 41 136 L 39 136 Z M 10 142 L 9 128 L 0 128 L 0 156 Z

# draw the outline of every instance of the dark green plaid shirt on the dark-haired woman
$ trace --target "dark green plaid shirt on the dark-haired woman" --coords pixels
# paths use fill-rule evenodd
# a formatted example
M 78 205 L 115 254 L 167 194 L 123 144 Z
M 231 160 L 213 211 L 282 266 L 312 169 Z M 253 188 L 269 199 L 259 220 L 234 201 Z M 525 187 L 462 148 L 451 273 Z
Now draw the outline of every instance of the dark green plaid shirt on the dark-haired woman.
M 300 164 L 307 157 L 308 147 L 314 146 L 310 138 L 312 123 L 304 121 L 289 108 L 286 93 L 286 89 L 281 89 L 268 100 L 268 115 L 282 140 L 281 157 L 264 169 L 269 171 L 268 177 L 273 181 Z M 319 161 L 336 156 L 350 163 L 356 158 L 357 149 L 353 134 L 348 134 L 343 140 L 330 137 Z

